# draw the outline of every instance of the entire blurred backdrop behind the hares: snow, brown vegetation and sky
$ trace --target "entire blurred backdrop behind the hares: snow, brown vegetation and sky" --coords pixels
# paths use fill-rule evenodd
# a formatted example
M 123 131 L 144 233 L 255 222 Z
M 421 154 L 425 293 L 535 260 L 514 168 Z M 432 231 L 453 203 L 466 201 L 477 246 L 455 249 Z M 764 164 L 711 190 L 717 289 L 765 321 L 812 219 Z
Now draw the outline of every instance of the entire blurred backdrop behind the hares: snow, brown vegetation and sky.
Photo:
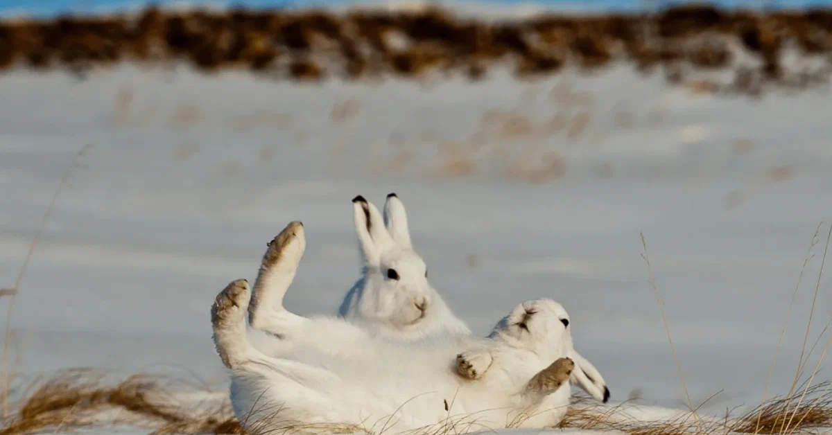
M 784 325 L 769 394 L 804 342 L 829 376 L 828 2 L 0 11 L 6 377 L 178 371 L 221 390 L 215 294 L 303 220 L 286 304 L 334 313 L 359 278 L 350 200 L 390 192 L 477 334 L 557 299 L 613 400 L 686 407 L 655 290 L 695 406 L 759 403 Z

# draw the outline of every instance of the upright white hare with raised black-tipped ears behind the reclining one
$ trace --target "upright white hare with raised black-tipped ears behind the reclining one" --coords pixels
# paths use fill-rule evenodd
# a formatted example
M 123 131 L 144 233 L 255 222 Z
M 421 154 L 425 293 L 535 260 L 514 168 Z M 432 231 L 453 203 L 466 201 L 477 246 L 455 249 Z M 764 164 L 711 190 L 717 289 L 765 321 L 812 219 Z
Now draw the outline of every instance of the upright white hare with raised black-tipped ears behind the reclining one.
M 344 296 L 338 314 L 399 339 L 437 332 L 471 334 L 428 282 L 427 266 L 410 241 L 398 195 L 387 195 L 382 217 L 364 196 L 353 199 L 361 278 Z

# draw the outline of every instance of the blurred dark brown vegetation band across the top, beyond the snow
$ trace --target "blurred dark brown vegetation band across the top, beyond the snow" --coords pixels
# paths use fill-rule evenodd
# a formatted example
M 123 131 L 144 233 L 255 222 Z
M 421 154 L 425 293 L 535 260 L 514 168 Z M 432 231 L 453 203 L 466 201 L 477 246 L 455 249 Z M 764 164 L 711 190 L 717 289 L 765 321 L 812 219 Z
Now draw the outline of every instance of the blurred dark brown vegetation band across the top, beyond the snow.
M 782 57 L 790 46 L 821 57 L 824 66 L 785 77 Z M 830 47 L 832 9 L 751 12 L 706 4 L 647 15 L 547 13 L 498 22 L 439 8 L 336 13 L 156 7 L 131 16 L 0 22 L 4 69 L 64 66 L 82 73 L 124 60 L 185 60 L 204 71 L 247 68 L 309 80 L 421 77 L 430 71 L 459 71 L 476 80 L 504 60 L 527 76 L 557 72 L 567 62 L 593 69 L 626 59 L 643 72 L 666 67 L 670 82 L 680 82 L 684 68 L 733 67 L 730 90 L 758 92 L 765 83 L 808 87 L 824 81 Z M 748 53 L 753 66 L 736 62 L 737 50 Z

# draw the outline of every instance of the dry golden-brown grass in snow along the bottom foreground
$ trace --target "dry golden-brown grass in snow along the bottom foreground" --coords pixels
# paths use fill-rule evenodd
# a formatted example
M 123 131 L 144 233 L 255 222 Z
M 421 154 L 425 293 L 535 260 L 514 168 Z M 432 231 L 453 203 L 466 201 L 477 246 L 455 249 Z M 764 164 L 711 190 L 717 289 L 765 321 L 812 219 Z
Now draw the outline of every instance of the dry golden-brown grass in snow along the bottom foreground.
M 242 434 L 230 411 L 227 398 L 196 398 L 198 393 L 215 394 L 201 383 L 181 378 L 137 374 L 107 382 L 106 373 L 88 368 L 69 369 L 38 379 L 22 388 L 22 398 L 14 403 L 14 412 L 0 427 L 0 435 L 30 433 L 67 433 L 79 429 L 106 429 L 130 425 L 145 428 L 152 434 Z M 600 405 L 583 395 L 576 395 L 574 405 L 557 428 L 612 430 L 630 435 L 725 435 L 728 433 L 798 434 L 825 433 L 832 427 L 832 391 L 830 383 L 801 386 L 791 396 L 772 398 L 739 416 L 725 418 L 691 418 L 692 412 L 661 421 L 631 418 L 625 402 L 614 407 Z M 191 399 L 186 400 L 185 397 Z M 803 398 L 802 404 L 797 404 Z M 280 419 L 280 408 L 260 424 L 256 435 L 275 433 L 385 433 L 384 418 L 369 426 L 340 424 L 302 424 Z M 760 423 L 758 425 L 758 418 Z M 448 435 L 478 428 L 475 416 L 449 415 L 429 428 L 413 435 Z M 784 423 L 791 420 L 787 431 Z M 514 422 L 515 424 L 518 422 Z M 508 427 L 513 424 L 509 423 Z

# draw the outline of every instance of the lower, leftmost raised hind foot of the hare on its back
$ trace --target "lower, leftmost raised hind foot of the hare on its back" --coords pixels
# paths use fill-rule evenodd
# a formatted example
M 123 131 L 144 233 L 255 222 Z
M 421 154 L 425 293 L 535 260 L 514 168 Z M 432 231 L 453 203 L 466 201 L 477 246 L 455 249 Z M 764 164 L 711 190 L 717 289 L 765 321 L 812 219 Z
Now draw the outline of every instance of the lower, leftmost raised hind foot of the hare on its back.
M 216 352 L 227 368 L 235 368 L 245 352 L 245 309 L 250 296 L 248 281 L 237 279 L 225 286 L 211 305 L 210 323 Z

